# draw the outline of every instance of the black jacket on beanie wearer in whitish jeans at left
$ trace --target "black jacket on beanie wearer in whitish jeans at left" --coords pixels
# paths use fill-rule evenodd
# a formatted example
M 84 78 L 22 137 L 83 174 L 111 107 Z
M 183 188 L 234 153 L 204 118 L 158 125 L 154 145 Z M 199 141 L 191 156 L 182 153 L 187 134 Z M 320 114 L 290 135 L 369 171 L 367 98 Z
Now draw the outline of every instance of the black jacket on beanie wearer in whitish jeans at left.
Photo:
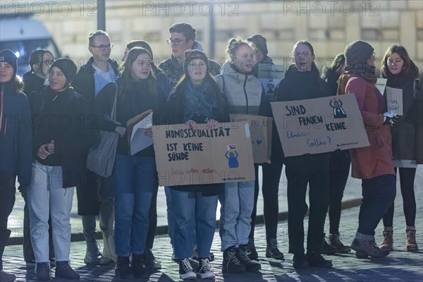
M 87 165 L 84 156 L 92 145 L 95 129 L 90 124 L 87 100 L 73 88 L 56 92 L 49 86 L 32 92 L 29 99 L 34 121 L 33 159 L 41 164 L 61 166 L 63 188 L 80 185 Z M 37 149 L 51 140 L 54 140 L 54 154 L 39 159 Z

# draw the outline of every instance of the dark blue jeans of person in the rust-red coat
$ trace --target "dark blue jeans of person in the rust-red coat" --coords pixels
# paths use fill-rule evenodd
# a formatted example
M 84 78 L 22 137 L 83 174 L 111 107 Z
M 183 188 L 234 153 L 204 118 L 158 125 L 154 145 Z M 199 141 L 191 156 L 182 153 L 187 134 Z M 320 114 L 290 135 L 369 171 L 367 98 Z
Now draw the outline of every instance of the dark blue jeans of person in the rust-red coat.
M 363 179 L 362 196 L 357 233 L 374 236 L 374 230 L 379 221 L 395 200 L 396 177 L 386 174 L 371 179 Z

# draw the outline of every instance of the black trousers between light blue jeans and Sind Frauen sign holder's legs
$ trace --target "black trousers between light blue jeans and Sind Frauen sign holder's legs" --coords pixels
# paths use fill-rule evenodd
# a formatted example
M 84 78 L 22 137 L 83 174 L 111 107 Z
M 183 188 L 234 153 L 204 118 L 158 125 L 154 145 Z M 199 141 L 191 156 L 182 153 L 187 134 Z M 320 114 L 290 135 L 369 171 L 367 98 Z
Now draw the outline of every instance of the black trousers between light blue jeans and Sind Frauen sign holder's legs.
M 274 239 L 278 231 L 279 214 L 279 180 L 281 179 L 283 163 L 274 161 L 271 164 L 255 164 L 255 193 L 254 209 L 251 214 L 251 231 L 248 238 L 254 239 L 255 219 L 257 217 L 257 200 L 259 197 L 259 166 L 262 166 L 262 193 L 263 193 L 263 214 L 266 226 L 266 238 Z

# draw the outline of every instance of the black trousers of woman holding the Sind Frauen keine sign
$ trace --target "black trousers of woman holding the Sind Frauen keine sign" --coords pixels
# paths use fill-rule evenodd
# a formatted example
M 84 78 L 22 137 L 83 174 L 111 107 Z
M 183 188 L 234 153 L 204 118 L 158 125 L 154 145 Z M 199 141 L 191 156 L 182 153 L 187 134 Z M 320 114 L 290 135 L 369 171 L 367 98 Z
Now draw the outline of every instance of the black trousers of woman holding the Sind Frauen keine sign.
M 304 253 L 304 217 L 309 208 L 307 252 L 321 252 L 324 221 L 329 205 L 329 154 L 285 159 L 288 180 L 289 252 Z M 305 202 L 309 185 L 309 207 Z

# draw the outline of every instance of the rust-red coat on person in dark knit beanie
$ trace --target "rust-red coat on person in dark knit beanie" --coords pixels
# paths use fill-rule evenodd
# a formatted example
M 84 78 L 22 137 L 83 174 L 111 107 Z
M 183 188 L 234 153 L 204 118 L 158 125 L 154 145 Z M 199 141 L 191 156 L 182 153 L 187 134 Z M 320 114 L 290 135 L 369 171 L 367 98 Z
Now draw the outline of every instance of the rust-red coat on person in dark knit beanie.
M 353 178 L 369 179 L 386 174 L 395 175 L 392 164 L 391 129 L 384 125 L 386 102 L 379 90 L 360 75 L 341 75 L 340 89 L 355 94 L 361 111 L 369 147 L 350 149 Z

